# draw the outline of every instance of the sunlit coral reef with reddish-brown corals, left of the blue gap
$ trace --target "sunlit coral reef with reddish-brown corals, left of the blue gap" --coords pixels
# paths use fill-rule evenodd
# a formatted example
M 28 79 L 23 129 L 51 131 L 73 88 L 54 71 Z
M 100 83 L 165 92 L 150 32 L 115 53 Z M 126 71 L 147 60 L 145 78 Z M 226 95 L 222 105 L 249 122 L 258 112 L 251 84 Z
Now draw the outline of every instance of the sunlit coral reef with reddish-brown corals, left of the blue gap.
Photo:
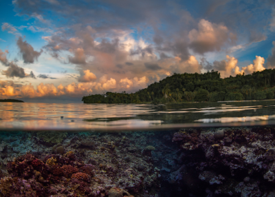
M 158 195 L 161 172 L 153 164 L 157 157 L 142 155 L 145 136 L 153 138 L 152 133 L 61 133 L 55 134 L 61 136 L 58 140 L 45 139 L 47 134 L 23 132 L 3 138 L 0 168 L 6 171 L 3 181 L 10 182 L 1 185 L 5 189 L 0 196 Z M 58 147 L 67 152 L 58 154 Z M 121 192 L 114 194 L 111 188 Z

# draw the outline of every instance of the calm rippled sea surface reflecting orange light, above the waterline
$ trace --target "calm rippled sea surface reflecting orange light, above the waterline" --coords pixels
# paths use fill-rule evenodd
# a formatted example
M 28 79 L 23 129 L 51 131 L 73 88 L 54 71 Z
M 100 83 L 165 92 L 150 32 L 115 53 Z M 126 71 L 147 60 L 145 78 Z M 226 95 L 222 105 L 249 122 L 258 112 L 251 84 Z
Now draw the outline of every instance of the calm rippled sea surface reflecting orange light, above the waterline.
M 168 105 L 0 103 L 0 129 L 115 130 L 274 125 L 275 101 Z

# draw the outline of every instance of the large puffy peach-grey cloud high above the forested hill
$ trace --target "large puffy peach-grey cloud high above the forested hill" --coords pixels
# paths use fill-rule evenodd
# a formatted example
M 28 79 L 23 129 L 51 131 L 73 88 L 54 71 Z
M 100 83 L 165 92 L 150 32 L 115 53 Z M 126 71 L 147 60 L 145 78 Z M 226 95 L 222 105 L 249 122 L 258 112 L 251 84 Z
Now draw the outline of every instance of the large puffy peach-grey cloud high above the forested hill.
M 229 32 L 223 24 L 210 23 L 201 19 L 198 30 L 189 32 L 190 48 L 199 54 L 220 51 L 226 43 L 234 43 L 236 35 Z

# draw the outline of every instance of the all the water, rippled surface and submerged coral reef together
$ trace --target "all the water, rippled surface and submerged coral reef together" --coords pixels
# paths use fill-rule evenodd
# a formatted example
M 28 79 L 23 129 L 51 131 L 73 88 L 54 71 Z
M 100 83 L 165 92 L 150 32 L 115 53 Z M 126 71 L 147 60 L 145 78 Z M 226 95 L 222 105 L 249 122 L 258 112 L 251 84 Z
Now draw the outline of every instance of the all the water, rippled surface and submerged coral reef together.
M 275 196 L 275 101 L 0 103 L 0 118 L 0 196 Z

